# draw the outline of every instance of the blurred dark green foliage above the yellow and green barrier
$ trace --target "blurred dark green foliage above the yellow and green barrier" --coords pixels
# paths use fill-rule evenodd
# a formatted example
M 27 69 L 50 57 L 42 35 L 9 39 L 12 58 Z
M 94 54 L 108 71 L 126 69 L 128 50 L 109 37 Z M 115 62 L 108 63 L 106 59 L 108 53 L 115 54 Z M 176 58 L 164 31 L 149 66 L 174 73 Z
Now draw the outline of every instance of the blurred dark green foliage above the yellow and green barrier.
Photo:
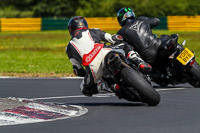
M 200 14 L 199 0 L 1 0 L 0 17 L 115 17 L 122 7 L 132 8 L 136 16 Z

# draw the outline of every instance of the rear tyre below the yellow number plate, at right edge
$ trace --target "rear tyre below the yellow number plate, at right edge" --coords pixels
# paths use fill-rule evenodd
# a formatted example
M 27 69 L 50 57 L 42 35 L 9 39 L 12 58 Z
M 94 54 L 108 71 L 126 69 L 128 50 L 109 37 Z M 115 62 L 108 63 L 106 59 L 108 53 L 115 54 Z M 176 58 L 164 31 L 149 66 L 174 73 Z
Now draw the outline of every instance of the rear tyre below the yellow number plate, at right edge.
M 200 65 L 195 61 L 191 68 L 188 69 L 190 77 L 188 83 L 194 87 L 200 87 Z

